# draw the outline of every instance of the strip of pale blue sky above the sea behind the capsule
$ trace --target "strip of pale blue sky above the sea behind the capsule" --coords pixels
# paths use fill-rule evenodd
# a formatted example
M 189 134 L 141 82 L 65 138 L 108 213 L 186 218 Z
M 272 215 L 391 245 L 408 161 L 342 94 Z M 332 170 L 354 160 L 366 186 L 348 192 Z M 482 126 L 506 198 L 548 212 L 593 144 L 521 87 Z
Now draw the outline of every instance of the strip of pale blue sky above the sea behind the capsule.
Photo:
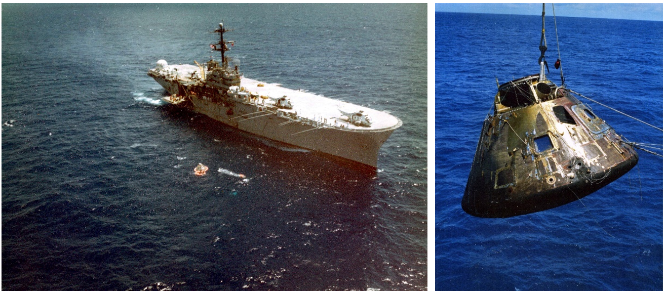
M 552 15 L 552 5 L 545 5 L 546 15 Z M 662 3 L 555 3 L 561 17 L 593 17 L 600 19 L 638 19 L 662 21 Z M 436 3 L 436 11 L 541 15 L 542 3 Z

